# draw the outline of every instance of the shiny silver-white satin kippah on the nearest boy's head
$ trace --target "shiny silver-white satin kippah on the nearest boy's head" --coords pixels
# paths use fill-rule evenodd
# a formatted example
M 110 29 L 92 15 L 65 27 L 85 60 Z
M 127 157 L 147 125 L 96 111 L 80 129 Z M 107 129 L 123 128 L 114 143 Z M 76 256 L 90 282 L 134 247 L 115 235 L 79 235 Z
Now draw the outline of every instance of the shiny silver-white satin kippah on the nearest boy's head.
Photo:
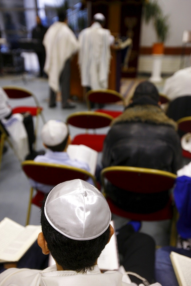
M 79 179 L 55 186 L 47 196 L 44 212 L 55 230 L 74 240 L 99 237 L 111 221 L 111 211 L 102 193 Z

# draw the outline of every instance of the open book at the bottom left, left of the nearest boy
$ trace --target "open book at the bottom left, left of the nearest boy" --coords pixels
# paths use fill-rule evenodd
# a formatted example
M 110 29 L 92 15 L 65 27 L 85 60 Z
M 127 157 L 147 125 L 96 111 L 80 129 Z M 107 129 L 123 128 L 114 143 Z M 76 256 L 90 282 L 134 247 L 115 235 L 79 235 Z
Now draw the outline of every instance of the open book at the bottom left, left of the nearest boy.
M 5 217 L 0 222 L 0 263 L 16 262 L 37 240 L 39 225 L 22 225 Z

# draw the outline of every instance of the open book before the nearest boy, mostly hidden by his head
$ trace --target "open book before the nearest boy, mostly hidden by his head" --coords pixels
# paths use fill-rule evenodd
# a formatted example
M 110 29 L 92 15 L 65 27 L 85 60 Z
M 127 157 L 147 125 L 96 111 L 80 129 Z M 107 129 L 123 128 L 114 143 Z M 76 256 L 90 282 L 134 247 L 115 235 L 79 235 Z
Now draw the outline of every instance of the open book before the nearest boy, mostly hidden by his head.
M 110 224 L 114 227 L 113 221 Z M 49 255 L 49 266 L 54 264 L 55 260 Z M 117 270 L 119 268 L 119 255 L 115 233 L 98 258 L 98 267 L 101 270 Z

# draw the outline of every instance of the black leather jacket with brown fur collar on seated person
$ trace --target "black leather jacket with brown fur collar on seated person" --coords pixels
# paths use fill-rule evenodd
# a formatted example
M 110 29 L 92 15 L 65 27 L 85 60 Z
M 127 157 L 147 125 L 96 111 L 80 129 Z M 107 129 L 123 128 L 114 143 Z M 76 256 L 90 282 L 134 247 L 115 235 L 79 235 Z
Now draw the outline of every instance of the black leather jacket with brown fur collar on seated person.
M 135 105 L 127 108 L 124 113 L 116 118 L 108 132 L 103 149 L 102 165 L 108 166 L 134 166 L 143 168 L 153 168 L 173 172 L 182 167 L 182 149 L 180 137 L 176 131 L 176 123 L 169 119 L 158 106 Z M 127 182 L 128 184 L 128 182 Z M 123 208 L 131 211 L 126 193 L 124 200 L 122 192 L 114 186 L 110 186 L 110 197 L 123 204 Z M 120 198 L 121 196 L 121 198 Z M 144 204 L 140 200 L 137 210 L 145 204 L 149 205 L 145 198 Z M 167 193 L 162 196 L 164 202 L 159 203 L 162 208 L 167 200 Z M 133 200 L 130 203 L 134 209 Z M 128 206 L 126 208 L 126 206 Z M 161 207 L 162 206 L 162 207 Z M 156 206 L 152 204 L 153 211 Z M 143 210 L 144 211 L 144 210 Z M 150 211 L 148 209 L 148 211 Z

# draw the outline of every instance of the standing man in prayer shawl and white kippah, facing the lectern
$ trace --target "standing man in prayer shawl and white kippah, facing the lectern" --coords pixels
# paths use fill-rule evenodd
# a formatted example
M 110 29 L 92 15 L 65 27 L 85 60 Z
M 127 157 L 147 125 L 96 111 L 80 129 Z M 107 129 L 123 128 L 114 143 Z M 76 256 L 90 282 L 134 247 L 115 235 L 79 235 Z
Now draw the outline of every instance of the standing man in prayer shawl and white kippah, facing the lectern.
M 87 90 L 108 88 L 110 45 L 114 43 L 114 37 L 110 30 L 103 28 L 104 24 L 104 15 L 97 13 L 92 25 L 79 33 L 81 85 Z

